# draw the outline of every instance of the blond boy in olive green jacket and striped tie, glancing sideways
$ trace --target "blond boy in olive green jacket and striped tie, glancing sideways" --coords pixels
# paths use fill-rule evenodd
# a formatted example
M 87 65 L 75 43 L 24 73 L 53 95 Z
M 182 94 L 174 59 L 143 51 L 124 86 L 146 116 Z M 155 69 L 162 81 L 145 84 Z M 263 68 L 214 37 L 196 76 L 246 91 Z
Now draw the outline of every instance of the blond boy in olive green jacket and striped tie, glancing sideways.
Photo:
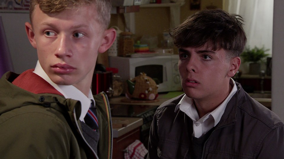
M 38 62 L 0 80 L 1 158 L 112 158 L 107 97 L 90 90 L 116 35 L 110 9 L 109 0 L 30 1 L 25 30 Z

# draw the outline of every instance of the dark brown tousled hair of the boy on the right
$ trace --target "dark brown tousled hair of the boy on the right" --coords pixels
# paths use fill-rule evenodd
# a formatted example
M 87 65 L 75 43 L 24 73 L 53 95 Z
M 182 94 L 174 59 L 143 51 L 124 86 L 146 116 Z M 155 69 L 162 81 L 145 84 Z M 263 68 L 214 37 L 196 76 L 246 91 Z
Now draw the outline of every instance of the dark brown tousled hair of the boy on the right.
M 240 56 L 246 44 L 243 18 L 221 9 L 202 10 L 188 16 L 170 31 L 176 47 L 202 47 L 212 50 L 223 48 L 232 57 Z

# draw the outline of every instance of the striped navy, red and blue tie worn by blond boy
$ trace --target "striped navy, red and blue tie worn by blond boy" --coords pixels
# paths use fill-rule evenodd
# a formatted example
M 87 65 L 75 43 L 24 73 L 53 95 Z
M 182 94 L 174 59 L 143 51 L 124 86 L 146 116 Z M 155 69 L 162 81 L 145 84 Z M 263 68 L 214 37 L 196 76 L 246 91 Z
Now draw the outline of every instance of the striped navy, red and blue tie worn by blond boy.
M 99 130 L 99 122 L 97 118 L 97 111 L 94 105 L 94 101 L 91 100 L 91 107 L 89 108 L 86 116 L 84 117 L 85 123 L 93 130 Z

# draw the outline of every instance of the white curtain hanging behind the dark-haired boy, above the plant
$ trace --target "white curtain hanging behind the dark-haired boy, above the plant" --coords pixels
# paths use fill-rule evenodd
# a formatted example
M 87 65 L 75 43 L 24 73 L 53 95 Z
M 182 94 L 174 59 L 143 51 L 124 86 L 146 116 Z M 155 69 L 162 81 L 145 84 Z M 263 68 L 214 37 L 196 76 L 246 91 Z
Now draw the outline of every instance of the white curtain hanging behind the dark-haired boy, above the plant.
M 245 20 L 246 46 L 264 46 L 272 55 L 273 0 L 224 0 L 224 9 Z M 246 64 L 242 63 L 240 69 L 247 73 Z

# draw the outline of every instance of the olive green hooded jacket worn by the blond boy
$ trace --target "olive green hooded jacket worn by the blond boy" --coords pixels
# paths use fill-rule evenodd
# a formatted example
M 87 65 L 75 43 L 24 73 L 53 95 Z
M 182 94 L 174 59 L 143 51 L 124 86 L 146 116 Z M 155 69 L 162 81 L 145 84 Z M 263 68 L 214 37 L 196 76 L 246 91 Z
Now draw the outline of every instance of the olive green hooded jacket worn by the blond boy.
M 0 156 L 14 158 L 112 158 L 112 123 L 105 93 L 94 96 L 99 120 L 98 155 L 86 142 L 80 125 L 81 103 L 50 93 L 34 94 L 0 80 Z

